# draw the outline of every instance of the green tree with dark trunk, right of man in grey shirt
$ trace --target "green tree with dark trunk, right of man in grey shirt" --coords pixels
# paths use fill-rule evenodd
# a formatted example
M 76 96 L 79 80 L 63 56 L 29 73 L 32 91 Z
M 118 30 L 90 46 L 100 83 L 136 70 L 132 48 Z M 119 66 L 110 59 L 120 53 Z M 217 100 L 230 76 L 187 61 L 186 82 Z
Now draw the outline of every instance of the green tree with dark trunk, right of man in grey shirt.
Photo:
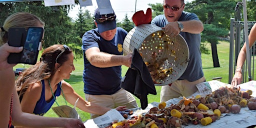
M 194 0 L 185 10 L 194 12 L 204 24 L 201 40 L 211 44 L 213 67 L 220 67 L 217 55 L 219 37 L 226 37 L 236 0 Z

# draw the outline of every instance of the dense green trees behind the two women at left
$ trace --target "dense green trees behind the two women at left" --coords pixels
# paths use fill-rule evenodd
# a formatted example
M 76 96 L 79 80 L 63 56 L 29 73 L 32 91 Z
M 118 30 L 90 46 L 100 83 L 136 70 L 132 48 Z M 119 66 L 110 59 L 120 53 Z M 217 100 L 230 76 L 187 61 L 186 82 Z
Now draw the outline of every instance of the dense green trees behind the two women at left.
M 78 3 L 78 0 L 75 0 Z M 0 24 L 12 13 L 24 11 L 37 15 L 45 22 L 43 47 L 53 44 L 67 44 L 80 57 L 81 39 L 75 35 L 74 24 L 68 16 L 68 11 L 73 5 L 44 6 L 43 1 L 23 1 L 0 3 Z

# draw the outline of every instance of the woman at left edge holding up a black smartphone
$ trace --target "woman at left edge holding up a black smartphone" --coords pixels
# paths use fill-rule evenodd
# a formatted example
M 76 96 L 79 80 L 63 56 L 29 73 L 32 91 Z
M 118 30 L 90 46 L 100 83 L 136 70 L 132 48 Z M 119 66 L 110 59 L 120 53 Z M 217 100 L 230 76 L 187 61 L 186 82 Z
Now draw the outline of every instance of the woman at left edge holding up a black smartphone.
M 11 52 L 20 52 L 23 47 L 9 46 L 8 29 L 10 27 L 44 27 L 37 16 L 27 12 L 17 12 L 8 16 L 0 27 L 0 127 L 13 125 L 27 127 L 85 127 L 79 119 L 43 117 L 22 112 L 17 91 L 14 85 L 15 75 L 12 67 L 15 64 L 7 63 Z

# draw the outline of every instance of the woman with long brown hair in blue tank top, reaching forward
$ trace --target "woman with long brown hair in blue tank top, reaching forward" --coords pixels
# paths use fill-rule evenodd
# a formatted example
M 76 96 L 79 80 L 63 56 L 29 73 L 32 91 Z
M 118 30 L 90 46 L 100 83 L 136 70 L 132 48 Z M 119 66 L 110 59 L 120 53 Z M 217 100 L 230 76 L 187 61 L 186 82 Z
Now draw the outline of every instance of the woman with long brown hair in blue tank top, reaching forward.
M 73 58 L 73 52 L 67 45 L 55 44 L 43 50 L 40 61 L 22 71 L 16 80 L 22 111 L 43 115 L 54 102 L 60 105 L 56 101 L 59 95 L 63 96 L 65 104 L 74 105 L 79 98 L 76 106 L 89 113 L 101 115 L 111 109 L 85 101 L 63 80 L 69 79 L 75 69 Z M 124 110 L 125 106 L 116 109 Z

